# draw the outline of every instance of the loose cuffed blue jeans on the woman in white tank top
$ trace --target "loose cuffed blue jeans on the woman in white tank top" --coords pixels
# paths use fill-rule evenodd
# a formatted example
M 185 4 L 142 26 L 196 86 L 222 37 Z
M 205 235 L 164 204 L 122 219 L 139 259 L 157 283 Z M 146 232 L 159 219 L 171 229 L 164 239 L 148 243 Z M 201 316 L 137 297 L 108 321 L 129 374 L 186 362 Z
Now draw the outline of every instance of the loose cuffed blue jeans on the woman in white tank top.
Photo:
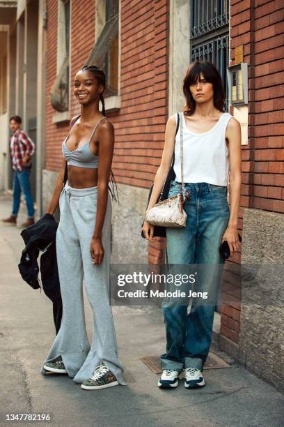
M 166 229 L 166 263 L 175 264 L 177 271 L 176 264 L 203 264 L 197 290 L 217 294 L 224 263 L 219 246 L 230 217 L 227 187 L 205 182 L 185 183 L 184 187 L 191 194 L 191 199 L 184 202 L 187 224 L 185 228 Z M 171 181 L 168 197 L 179 192 L 180 183 Z M 192 301 L 189 314 L 187 308 L 188 302 L 171 304 L 166 299 L 162 303 L 166 324 L 166 353 L 161 355 L 163 369 L 203 370 L 212 340 L 215 304 Z

